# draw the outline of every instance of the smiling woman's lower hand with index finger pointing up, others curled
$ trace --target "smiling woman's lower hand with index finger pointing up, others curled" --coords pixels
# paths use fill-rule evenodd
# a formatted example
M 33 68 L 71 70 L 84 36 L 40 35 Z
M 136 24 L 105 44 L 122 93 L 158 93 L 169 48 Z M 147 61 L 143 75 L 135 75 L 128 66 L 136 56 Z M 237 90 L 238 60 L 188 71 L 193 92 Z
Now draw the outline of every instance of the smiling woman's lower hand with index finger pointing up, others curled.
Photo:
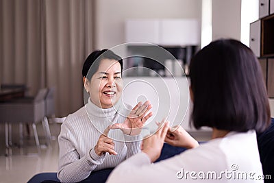
M 105 153 L 109 153 L 110 155 L 116 155 L 116 151 L 114 151 L 114 143 L 111 138 L 108 138 L 108 132 L 110 132 L 110 129 L 112 128 L 112 125 L 109 125 L 103 134 L 99 136 L 99 139 L 97 141 L 97 144 L 95 145 L 95 153 L 98 156 L 102 156 Z

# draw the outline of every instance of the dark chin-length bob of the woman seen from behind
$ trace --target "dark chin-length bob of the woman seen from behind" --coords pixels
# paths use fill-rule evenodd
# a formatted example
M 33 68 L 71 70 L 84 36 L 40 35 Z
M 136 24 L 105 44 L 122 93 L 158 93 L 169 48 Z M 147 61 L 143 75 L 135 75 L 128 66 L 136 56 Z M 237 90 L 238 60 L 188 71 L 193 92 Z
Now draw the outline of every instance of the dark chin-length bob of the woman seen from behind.
M 262 132 L 270 123 L 269 99 L 258 59 L 238 40 L 221 39 L 190 62 L 192 125 Z

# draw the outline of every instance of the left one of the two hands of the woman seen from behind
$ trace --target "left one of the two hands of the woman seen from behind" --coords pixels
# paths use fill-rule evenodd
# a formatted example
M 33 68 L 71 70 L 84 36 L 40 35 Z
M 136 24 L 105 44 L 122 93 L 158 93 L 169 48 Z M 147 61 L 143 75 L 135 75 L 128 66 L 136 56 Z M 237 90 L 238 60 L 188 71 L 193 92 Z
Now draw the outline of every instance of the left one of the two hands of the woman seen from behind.
M 155 162 L 160 157 L 167 130 L 169 130 L 168 121 L 159 127 L 158 132 L 142 141 L 142 152 L 149 156 L 151 162 Z

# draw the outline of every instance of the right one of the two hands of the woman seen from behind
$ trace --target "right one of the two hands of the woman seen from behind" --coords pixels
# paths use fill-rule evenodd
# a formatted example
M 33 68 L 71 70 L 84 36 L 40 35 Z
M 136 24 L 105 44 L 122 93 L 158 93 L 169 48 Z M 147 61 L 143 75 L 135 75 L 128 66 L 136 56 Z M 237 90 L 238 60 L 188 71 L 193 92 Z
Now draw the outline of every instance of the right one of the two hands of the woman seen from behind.
M 188 149 L 199 146 L 199 143 L 195 140 L 195 138 L 190 136 L 190 134 L 188 134 L 188 132 L 186 132 L 181 125 L 169 127 L 164 141 L 169 145 L 186 147 Z

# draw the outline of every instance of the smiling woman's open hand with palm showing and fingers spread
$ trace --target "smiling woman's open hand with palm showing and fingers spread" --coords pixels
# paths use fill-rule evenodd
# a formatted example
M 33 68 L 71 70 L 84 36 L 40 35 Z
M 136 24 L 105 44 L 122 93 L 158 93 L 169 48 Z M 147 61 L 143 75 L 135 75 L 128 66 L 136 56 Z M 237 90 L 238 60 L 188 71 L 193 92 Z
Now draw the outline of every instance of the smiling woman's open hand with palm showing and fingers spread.
M 129 113 L 129 116 L 123 123 L 116 123 L 112 125 L 112 129 L 120 129 L 123 134 L 135 136 L 140 134 L 145 122 L 152 117 L 153 113 L 149 112 L 152 105 L 149 101 L 138 102 L 137 105 Z M 147 114 L 149 112 L 149 114 Z M 146 115 L 147 114 L 147 115 Z

